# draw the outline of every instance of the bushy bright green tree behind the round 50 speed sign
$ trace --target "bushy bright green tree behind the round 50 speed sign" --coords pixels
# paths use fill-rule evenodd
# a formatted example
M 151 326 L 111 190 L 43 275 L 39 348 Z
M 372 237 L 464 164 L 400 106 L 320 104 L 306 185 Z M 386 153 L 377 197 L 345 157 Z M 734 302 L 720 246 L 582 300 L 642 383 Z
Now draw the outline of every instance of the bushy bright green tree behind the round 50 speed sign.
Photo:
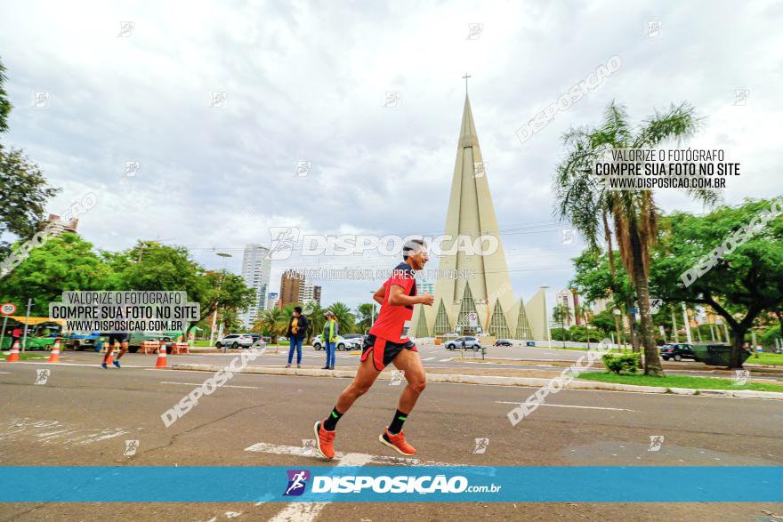
M 4 277 L 0 301 L 11 301 L 20 310 L 32 298 L 31 314 L 48 317 L 49 303 L 61 301 L 65 291 L 107 289 L 109 266 L 93 252 L 93 245 L 77 234 L 64 232 L 30 251 L 27 260 Z

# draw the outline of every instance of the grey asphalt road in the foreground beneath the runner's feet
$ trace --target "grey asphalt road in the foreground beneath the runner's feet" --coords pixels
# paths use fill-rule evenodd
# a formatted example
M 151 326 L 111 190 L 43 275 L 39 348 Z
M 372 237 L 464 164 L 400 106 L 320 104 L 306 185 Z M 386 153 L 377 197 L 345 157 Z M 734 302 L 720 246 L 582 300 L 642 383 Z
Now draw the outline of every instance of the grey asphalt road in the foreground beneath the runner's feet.
M 94 362 L 96 354 L 82 356 Z M 3 465 L 332 465 L 298 448 L 312 438 L 312 423 L 330 411 L 347 380 L 238 374 L 165 428 L 160 414 L 208 373 L 131 367 L 149 366 L 154 360 L 149 356 L 124 358 L 122 370 L 70 360 L 76 365 L 0 364 Z M 338 365 L 347 361 L 337 360 Z M 34 384 L 36 369 L 44 368 L 51 370 L 48 380 Z M 400 391 L 383 381 L 359 399 L 340 422 L 337 451 L 388 462 L 383 457 L 391 453 L 376 438 L 390 421 Z M 513 427 L 506 413 L 533 391 L 433 383 L 409 416 L 408 439 L 417 457 L 454 464 L 783 464 L 778 401 L 563 390 Z M 664 437 L 658 451 L 649 451 L 651 436 Z M 485 454 L 473 453 L 476 438 L 489 439 Z M 139 441 L 133 456 L 124 455 L 129 439 Z M 783 504 L 10 503 L 0 506 L 0 519 L 753 521 L 765 510 L 781 513 Z

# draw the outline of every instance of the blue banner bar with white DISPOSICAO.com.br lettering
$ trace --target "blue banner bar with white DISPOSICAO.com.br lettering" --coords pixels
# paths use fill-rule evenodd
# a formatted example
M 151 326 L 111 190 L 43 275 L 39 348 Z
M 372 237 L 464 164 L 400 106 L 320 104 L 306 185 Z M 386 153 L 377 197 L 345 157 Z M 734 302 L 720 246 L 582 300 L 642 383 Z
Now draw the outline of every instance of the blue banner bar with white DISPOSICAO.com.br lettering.
M 4 466 L 0 502 L 783 502 L 778 466 Z

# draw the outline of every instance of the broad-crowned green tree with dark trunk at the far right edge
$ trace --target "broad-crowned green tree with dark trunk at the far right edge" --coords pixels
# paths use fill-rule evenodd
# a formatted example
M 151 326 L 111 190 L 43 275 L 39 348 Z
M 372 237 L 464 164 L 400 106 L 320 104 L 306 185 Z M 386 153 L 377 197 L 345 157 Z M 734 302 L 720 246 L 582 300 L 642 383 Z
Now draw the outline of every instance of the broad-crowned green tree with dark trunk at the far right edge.
M 770 200 L 758 200 L 703 216 L 673 213 L 662 221 L 650 270 L 650 288 L 665 301 L 707 305 L 723 317 L 731 328 L 732 368 L 741 367 L 739 354 L 755 319 L 783 303 L 783 217 L 758 228 L 771 207 Z M 708 256 L 727 238 L 737 245 L 731 253 Z M 708 261 L 708 269 L 691 280 L 686 273 L 704 268 L 706 257 L 714 264 Z

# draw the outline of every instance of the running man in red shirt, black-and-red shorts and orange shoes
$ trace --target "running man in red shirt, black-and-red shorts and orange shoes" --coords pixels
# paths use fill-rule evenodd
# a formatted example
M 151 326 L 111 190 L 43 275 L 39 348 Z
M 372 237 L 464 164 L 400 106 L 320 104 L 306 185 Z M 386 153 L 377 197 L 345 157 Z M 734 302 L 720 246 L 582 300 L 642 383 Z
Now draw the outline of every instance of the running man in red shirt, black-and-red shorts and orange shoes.
M 423 269 L 429 260 L 424 241 L 408 241 L 403 246 L 402 259 L 405 262 L 394 269 L 389 280 L 373 295 L 373 299 L 381 304 L 381 311 L 364 341 L 364 353 L 361 354 L 356 377 L 337 398 L 337 404 L 327 418 L 316 422 L 313 427 L 319 453 L 327 459 L 335 456 L 333 443 L 337 422 L 357 398 L 367 393 L 383 368 L 392 362 L 404 373 L 408 386 L 402 390 L 391 424 L 378 436 L 378 440 L 400 454 L 416 454 L 416 449 L 405 441 L 402 424 L 416 406 L 416 400 L 427 385 L 427 378 L 416 345 L 408 339 L 408 329 L 414 305 L 432 306 L 434 297 L 429 293 L 416 295 L 416 270 Z

